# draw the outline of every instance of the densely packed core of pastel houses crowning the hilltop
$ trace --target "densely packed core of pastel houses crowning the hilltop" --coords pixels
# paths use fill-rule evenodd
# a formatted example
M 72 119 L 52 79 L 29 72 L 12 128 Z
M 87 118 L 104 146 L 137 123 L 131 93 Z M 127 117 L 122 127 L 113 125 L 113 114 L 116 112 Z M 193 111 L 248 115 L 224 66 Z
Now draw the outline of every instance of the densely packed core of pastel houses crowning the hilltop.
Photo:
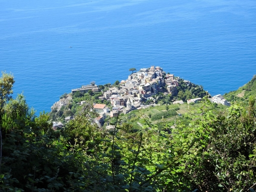
M 151 66 L 150 68 L 140 69 L 136 73 L 128 76 L 127 80 L 122 80 L 119 88 L 111 87 L 103 92 L 103 96 L 99 99 L 106 99 L 113 106 L 109 111 L 103 104 L 94 104 L 94 109 L 98 112 L 110 112 L 110 116 L 117 116 L 118 113 L 128 113 L 134 109 L 140 109 L 142 102 L 148 99 L 154 99 L 156 93 L 164 92 L 163 87 L 167 84 L 167 92 L 172 96 L 177 94 L 177 86 L 179 78 L 174 78 L 174 75 L 166 74 L 163 77 L 163 68 Z M 189 81 L 186 81 L 189 83 Z M 87 93 L 99 92 L 99 87 L 94 84 L 82 86 L 78 89 L 71 90 L 72 93 L 77 91 Z

